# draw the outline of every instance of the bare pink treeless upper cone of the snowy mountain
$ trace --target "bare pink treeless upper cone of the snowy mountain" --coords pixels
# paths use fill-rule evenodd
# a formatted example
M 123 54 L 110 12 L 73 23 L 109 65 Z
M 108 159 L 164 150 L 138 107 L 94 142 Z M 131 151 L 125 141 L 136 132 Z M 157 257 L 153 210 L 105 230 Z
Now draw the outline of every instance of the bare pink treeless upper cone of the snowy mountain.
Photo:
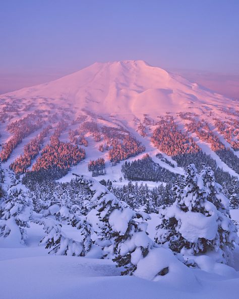
M 63 108 L 84 108 L 100 115 L 202 113 L 205 105 L 217 108 L 224 107 L 225 103 L 233 105 L 232 100 L 143 60 L 96 62 L 61 79 L 3 96 L 47 98 Z

